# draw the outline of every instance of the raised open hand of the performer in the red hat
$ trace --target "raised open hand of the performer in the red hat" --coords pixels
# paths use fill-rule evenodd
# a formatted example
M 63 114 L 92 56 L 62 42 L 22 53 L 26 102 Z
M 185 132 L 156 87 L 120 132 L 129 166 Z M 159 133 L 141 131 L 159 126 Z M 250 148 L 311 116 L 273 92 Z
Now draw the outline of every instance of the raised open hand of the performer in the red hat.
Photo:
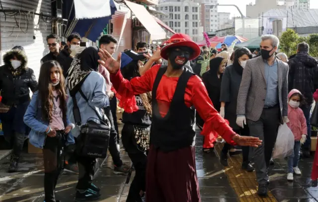
M 111 74 L 116 74 L 120 69 L 120 57 L 121 53 L 118 54 L 117 60 L 114 59 L 107 50 L 99 49 L 98 55 L 100 59 L 98 63 L 103 65 Z

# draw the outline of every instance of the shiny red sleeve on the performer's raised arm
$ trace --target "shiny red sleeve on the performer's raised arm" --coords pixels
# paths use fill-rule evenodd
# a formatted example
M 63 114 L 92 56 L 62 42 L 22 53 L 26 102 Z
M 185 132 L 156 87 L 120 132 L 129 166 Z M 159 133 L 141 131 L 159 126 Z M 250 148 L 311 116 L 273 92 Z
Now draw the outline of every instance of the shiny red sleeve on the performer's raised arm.
M 159 66 L 159 65 L 158 65 Z M 124 79 L 120 71 L 110 74 L 110 80 L 117 91 L 116 97 L 120 100 L 118 106 L 125 112 L 132 113 L 138 110 L 135 95 L 150 92 L 153 86 L 153 76 L 157 75 L 159 67 L 148 70 L 145 75 L 135 77 L 128 81 Z

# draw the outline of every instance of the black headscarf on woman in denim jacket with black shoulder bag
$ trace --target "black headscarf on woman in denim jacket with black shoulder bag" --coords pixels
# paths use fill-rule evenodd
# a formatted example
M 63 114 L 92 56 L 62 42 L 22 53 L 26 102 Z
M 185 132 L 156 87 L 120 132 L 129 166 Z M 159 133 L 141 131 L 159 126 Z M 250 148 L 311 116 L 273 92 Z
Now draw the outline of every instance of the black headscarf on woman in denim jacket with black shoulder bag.
M 99 49 L 97 47 L 88 47 L 78 56 L 80 60 L 80 69 L 82 71 L 96 71 L 98 67 Z

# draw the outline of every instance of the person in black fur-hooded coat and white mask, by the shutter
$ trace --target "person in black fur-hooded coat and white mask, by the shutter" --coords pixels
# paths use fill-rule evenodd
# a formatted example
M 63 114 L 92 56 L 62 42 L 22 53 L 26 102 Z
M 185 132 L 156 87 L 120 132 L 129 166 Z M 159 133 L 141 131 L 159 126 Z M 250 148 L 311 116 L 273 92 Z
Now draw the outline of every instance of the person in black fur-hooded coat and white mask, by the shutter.
M 26 133 L 23 116 L 30 103 L 30 90 L 34 93 L 38 82 L 34 71 L 27 67 L 23 47 L 16 46 L 7 51 L 3 63 L 0 67 L 1 102 L 8 110 L 1 111 L 0 118 L 4 138 L 13 147 L 8 172 L 16 172 Z

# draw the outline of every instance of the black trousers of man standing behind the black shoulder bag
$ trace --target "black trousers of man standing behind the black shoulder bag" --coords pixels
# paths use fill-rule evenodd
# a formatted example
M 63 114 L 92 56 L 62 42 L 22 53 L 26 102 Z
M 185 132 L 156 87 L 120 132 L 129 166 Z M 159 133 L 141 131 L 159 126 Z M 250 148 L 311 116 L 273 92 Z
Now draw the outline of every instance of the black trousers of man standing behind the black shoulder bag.
M 113 158 L 114 164 L 117 167 L 120 167 L 123 165 L 123 161 L 120 159 L 120 153 L 117 149 L 117 132 L 115 129 L 114 119 L 113 119 L 113 115 L 112 115 L 110 106 L 105 107 L 104 112 L 105 112 L 108 120 L 110 121 L 110 125 L 111 125 L 110 134 L 109 134 L 108 151 L 109 151 L 111 157 Z

